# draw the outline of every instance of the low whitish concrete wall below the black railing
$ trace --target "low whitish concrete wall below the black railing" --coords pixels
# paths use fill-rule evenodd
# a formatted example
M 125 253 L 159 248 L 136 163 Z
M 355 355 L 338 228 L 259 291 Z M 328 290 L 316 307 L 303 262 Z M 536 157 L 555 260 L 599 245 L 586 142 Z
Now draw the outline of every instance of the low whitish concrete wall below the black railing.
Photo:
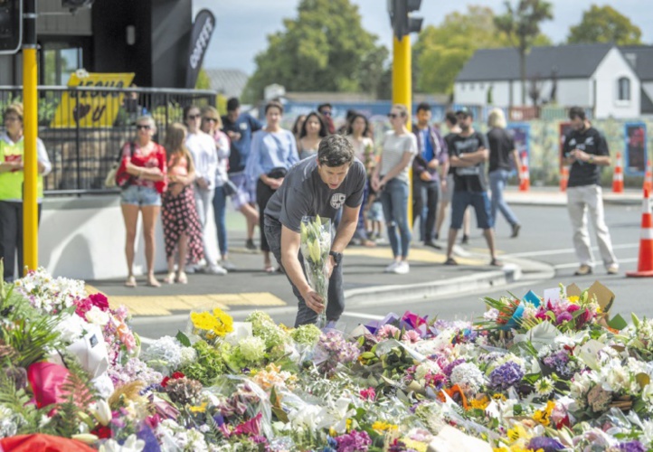
M 209 212 L 213 219 L 213 208 Z M 217 250 L 210 221 L 209 246 Z M 142 222 L 138 221 L 134 272 L 147 272 Z M 43 204 L 39 262 L 52 275 L 85 280 L 126 278 L 125 225 L 118 196 L 50 198 Z M 166 270 L 163 226 L 156 222 L 156 271 Z

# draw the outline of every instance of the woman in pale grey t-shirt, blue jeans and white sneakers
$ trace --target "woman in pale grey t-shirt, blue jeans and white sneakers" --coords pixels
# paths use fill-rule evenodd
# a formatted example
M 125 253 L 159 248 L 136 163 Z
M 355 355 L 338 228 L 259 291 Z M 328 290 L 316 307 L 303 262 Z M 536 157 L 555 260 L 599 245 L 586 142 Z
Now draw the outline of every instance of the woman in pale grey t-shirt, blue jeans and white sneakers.
M 375 192 L 383 190 L 383 216 L 393 249 L 394 261 L 385 272 L 403 275 L 410 271 L 407 261 L 412 239 L 408 226 L 408 168 L 417 154 L 417 138 L 406 128 L 408 108 L 405 105 L 393 105 L 388 118 L 393 129 L 383 137 L 383 151 L 374 168 L 372 188 Z

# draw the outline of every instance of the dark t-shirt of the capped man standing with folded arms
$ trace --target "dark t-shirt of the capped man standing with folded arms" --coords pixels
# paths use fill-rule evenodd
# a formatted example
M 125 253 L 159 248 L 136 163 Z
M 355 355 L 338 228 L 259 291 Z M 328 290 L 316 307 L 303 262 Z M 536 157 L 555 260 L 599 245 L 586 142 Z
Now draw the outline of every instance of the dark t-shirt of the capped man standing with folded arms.
M 449 156 L 460 156 L 477 152 L 479 148 L 487 149 L 487 139 L 480 132 L 474 132 L 469 137 L 456 135 L 450 138 Z M 474 166 L 457 166 L 453 168 L 453 179 L 455 192 L 480 193 L 487 190 L 487 177 L 485 174 L 485 162 Z

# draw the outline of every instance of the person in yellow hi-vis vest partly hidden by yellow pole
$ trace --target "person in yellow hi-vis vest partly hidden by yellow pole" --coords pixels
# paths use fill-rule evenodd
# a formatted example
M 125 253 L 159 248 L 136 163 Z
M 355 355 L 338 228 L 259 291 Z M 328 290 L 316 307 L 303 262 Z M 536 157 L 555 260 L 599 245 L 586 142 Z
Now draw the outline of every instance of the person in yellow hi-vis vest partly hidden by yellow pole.
M 5 260 L 5 281 L 14 280 L 16 251 L 18 276 L 23 276 L 23 182 L 24 139 L 23 104 L 14 103 L 5 108 L 5 132 L 0 135 L 0 258 Z M 43 176 L 50 173 L 52 165 L 45 152 L 43 141 L 36 138 L 38 153 L 38 202 L 41 218 L 43 201 Z

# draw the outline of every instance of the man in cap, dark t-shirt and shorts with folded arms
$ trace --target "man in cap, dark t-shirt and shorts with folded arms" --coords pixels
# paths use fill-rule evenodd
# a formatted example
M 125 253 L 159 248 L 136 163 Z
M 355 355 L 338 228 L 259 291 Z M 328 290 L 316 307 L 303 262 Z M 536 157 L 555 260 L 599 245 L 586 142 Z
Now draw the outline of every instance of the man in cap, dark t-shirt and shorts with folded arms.
M 495 254 L 495 239 L 492 231 L 493 219 L 487 196 L 485 163 L 489 158 L 487 137 L 472 127 L 473 114 L 468 108 L 456 112 L 460 133 L 450 138 L 449 163 L 454 169 L 454 192 L 451 199 L 451 227 L 447 243 L 446 265 L 457 265 L 453 259 L 453 244 L 462 226 L 462 217 L 469 205 L 474 207 L 478 227 L 483 230 L 492 260 L 490 265 L 502 264 Z

